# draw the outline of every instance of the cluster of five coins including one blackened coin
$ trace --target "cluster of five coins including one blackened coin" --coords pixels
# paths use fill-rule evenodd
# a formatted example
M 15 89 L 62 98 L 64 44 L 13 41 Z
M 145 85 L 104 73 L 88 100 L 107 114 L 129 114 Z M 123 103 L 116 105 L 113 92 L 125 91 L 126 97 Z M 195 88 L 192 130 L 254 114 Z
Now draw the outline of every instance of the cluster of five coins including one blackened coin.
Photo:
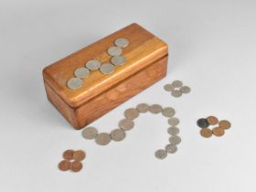
M 215 136 L 223 136 L 225 130 L 228 130 L 231 127 L 231 123 L 227 120 L 219 121 L 215 116 L 208 116 L 208 118 L 201 118 L 197 120 L 197 125 L 202 128 L 200 130 L 201 136 L 208 138 L 212 134 Z M 208 128 L 210 125 L 213 126 L 212 129 Z

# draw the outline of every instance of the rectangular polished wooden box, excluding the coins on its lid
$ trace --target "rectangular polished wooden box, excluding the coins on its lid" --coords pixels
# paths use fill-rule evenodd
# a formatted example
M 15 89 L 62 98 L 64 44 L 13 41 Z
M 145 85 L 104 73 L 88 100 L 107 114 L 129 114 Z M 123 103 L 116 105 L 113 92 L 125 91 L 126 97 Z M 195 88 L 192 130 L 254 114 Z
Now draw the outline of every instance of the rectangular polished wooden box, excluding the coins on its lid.
M 74 70 L 84 67 L 88 60 L 110 62 L 112 57 L 107 49 L 114 46 L 118 37 L 125 37 L 130 42 L 123 48 L 126 62 L 116 67 L 112 74 L 93 70 L 83 79 L 80 89 L 69 89 L 67 82 L 74 77 Z M 164 41 L 132 24 L 45 68 L 43 77 L 48 100 L 74 128 L 80 129 L 164 78 L 167 58 L 168 48 Z

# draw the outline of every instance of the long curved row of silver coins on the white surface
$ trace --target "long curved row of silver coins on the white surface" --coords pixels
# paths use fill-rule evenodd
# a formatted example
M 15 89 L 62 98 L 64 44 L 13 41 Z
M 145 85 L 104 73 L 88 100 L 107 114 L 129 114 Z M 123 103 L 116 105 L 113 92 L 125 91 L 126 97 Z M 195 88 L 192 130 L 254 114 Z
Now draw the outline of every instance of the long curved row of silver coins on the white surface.
M 155 151 L 155 157 L 159 159 L 164 159 L 167 154 L 174 154 L 177 150 L 177 144 L 180 144 L 181 139 L 178 136 L 179 129 L 176 125 L 179 120 L 174 117 L 175 110 L 171 107 L 162 108 L 159 104 L 148 105 L 146 103 L 141 103 L 136 106 L 136 108 L 130 108 L 124 111 L 124 119 L 118 123 L 119 128 L 112 130 L 111 133 L 98 133 L 95 127 L 87 127 L 82 131 L 82 136 L 85 139 L 95 139 L 96 144 L 106 145 L 111 142 L 111 140 L 119 142 L 125 138 L 125 132 L 133 129 L 133 120 L 139 116 L 140 113 L 151 112 L 154 114 L 162 113 L 168 119 L 168 124 L 171 125 L 167 129 L 167 133 L 171 136 L 169 137 L 169 144 L 165 146 L 165 149 L 159 149 Z

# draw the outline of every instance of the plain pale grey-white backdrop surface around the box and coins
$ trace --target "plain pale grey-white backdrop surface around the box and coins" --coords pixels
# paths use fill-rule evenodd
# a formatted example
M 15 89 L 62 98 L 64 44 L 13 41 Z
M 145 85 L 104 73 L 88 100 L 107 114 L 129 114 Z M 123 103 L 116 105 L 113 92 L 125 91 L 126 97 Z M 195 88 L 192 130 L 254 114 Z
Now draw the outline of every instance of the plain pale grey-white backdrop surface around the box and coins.
M 135 120 L 121 143 L 84 140 L 47 101 L 41 71 L 101 37 L 139 23 L 169 45 L 168 74 L 91 125 L 117 127 L 140 102 L 176 109 L 182 144 L 165 160 L 166 119 Z M 212 1 L 0 1 L 0 191 L 256 191 L 256 3 Z M 190 94 L 163 90 L 183 80 Z M 204 139 L 197 119 L 228 119 Z M 60 172 L 66 149 L 83 149 L 80 173 Z

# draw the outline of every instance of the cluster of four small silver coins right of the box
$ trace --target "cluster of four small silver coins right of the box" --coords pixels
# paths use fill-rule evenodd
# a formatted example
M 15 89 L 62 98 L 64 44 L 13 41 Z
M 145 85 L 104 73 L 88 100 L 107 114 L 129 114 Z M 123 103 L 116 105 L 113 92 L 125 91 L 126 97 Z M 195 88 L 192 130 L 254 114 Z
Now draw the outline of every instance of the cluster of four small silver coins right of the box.
M 183 85 L 181 80 L 174 80 L 171 84 L 165 84 L 164 90 L 171 92 L 171 95 L 176 98 L 191 91 L 189 87 Z

